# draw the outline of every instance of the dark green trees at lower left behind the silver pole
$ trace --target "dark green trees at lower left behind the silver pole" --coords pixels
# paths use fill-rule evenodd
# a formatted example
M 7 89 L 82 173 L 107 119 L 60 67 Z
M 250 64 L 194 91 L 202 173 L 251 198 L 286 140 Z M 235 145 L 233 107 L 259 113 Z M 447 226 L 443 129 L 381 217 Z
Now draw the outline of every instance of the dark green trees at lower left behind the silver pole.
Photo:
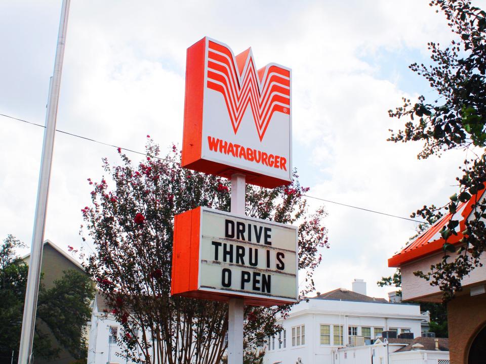
M 28 266 L 18 256 L 15 249 L 24 247 L 19 240 L 9 235 L 0 249 L 0 357 L 17 358 L 20 346 L 20 331 L 24 309 L 25 287 Z M 46 290 L 39 286 L 37 322 L 35 326 L 34 357 L 54 359 L 58 349 L 51 344 L 44 324 L 55 335 L 57 341 L 75 358 L 86 358 L 87 347 L 82 337 L 82 330 L 91 317 L 90 301 L 94 296 L 91 280 L 85 274 L 76 271 L 65 272 L 55 282 L 55 286 Z M 43 323 L 42 325 L 39 325 Z M 0 360 L 2 361 L 2 360 Z M 14 359 L 15 361 L 15 359 Z M 9 361 L 10 362 L 10 361 Z

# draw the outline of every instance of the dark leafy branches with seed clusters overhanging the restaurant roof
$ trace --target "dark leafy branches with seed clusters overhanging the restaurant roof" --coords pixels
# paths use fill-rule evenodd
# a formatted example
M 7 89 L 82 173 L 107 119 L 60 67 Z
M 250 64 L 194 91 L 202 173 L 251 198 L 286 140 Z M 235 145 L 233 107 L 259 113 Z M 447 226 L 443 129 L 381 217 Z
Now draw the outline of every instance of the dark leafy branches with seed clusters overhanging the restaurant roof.
M 460 291 L 461 280 L 472 269 L 480 266 L 480 256 L 486 247 L 486 203 L 478 199 L 486 182 L 486 12 L 472 6 L 466 0 L 433 0 L 436 7 L 447 18 L 454 39 L 448 47 L 438 43 L 428 43 L 432 65 L 414 63 L 412 71 L 425 77 L 437 95 L 434 101 L 426 101 L 420 96 L 417 102 L 403 99 L 403 105 L 390 117 L 410 118 L 403 130 L 391 131 L 390 141 L 422 141 L 424 146 L 418 158 L 440 155 L 451 149 L 464 149 L 469 153 L 459 167 L 457 177 L 458 192 L 443 206 L 424 206 L 412 214 L 429 222 L 439 218 L 446 210 L 453 215 L 448 225 L 441 231 L 446 240 L 444 256 L 440 262 L 430 267 L 429 272 L 415 274 L 430 281 L 443 291 L 445 301 Z M 474 198 L 472 218 L 466 222 L 461 244 L 450 243 L 457 235 L 460 203 Z

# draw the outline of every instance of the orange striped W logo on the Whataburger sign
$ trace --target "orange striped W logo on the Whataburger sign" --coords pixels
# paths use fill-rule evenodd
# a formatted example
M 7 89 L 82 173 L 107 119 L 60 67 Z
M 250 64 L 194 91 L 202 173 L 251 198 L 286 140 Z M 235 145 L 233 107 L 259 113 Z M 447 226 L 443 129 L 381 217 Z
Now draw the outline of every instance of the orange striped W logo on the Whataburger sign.
M 290 70 L 269 64 L 257 75 L 250 48 L 233 57 L 230 49 L 210 40 L 207 80 L 208 88 L 223 95 L 235 134 L 248 105 L 260 141 L 275 111 L 290 115 Z

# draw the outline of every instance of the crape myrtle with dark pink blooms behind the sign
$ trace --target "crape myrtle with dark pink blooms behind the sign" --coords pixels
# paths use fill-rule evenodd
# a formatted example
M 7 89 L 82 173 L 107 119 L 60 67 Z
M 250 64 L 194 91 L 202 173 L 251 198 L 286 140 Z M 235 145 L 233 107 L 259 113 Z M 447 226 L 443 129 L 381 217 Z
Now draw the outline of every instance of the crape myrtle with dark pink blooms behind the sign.
M 88 179 L 92 204 L 82 209 L 80 231 L 96 252 L 86 269 L 97 281 L 111 313 L 121 325 L 123 356 L 143 363 L 219 363 L 228 328 L 226 303 L 171 297 L 174 215 L 207 206 L 230 209 L 229 181 L 182 168 L 175 146 L 164 158 L 147 135 L 147 157 L 134 164 L 118 149 L 121 165 L 103 160 L 110 185 Z M 106 177 L 108 178 L 108 177 Z M 328 247 L 322 225 L 326 213 L 308 212 L 302 188 L 294 182 L 273 190 L 247 185 L 246 213 L 281 223 L 299 224 L 299 269 L 305 271 L 301 298 L 313 290 L 312 273 Z M 280 329 L 278 316 L 289 305 L 245 308 L 245 346 L 254 350 Z M 258 355 L 255 356 L 258 358 Z

